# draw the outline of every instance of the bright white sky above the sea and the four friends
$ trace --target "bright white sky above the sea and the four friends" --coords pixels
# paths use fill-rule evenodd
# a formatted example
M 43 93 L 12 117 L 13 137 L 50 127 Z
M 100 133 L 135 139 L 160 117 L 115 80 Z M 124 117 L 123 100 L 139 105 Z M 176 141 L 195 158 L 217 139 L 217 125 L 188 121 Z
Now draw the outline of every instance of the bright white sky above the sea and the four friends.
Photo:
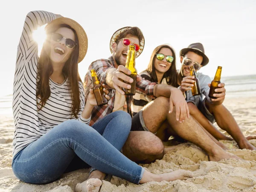
M 144 51 L 136 60 L 138 72 L 145 70 L 160 44 L 170 44 L 178 55 L 180 49 L 201 42 L 209 57 L 200 70 L 204 74 L 214 76 L 218 65 L 222 76 L 256 74 L 255 0 L 22 0 L 5 1 L 1 8 L 0 96 L 12 94 L 23 23 L 35 10 L 70 17 L 84 27 L 88 51 L 79 64 L 81 79 L 92 61 L 111 55 L 110 38 L 124 26 L 138 26 L 145 37 Z

